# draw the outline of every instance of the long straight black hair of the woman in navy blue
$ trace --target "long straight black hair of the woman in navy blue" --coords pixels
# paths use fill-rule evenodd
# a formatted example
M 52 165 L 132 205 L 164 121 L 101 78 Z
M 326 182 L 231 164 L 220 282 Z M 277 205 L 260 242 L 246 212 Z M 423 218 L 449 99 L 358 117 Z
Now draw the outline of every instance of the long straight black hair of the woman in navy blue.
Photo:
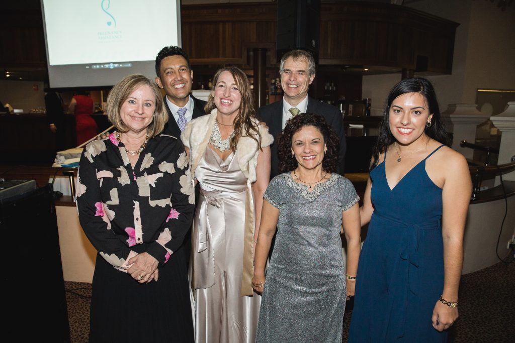
M 373 161 L 370 170 L 374 169 L 379 163 L 379 154 L 386 152 L 386 149 L 396 140 L 390 131 L 390 106 L 393 100 L 406 93 L 421 94 L 429 107 L 429 113 L 433 115 L 431 127 L 425 127 L 424 129 L 425 134 L 446 146 L 450 147 L 452 145 L 452 136 L 445 129 L 445 124 L 441 120 L 440 108 L 431 82 L 421 77 L 407 78 L 394 85 L 386 98 L 383 119 L 379 124 L 379 135 L 372 153 Z

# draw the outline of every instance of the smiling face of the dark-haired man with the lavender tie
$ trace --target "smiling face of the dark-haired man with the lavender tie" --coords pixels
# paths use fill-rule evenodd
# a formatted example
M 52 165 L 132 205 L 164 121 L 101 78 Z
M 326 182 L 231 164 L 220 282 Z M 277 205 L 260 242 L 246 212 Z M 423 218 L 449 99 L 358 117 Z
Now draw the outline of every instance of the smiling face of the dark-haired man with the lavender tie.
M 166 92 L 168 99 L 179 107 L 183 107 L 192 90 L 193 70 L 188 68 L 184 57 L 168 56 L 161 60 L 160 77 L 156 83 Z

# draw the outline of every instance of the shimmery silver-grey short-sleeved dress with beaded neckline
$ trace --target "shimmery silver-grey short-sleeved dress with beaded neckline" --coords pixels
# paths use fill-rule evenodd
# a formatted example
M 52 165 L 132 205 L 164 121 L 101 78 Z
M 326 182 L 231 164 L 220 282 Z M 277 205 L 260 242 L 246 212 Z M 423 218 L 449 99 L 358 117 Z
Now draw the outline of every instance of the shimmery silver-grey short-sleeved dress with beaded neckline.
M 341 216 L 359 196 L 338 174 L 309 192 L 284 173 L 271 180 L 264 198 L 279 209 L 279 222 L 256 342 L 341 342 Z

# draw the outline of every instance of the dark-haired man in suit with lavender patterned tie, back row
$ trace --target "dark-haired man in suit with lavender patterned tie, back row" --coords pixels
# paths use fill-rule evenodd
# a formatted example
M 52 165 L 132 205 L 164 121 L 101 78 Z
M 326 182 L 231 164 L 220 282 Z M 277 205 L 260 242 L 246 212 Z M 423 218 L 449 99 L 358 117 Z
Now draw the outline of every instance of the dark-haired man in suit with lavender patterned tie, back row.
M 156 57 L 156 83 L 164 89 L 163 98 L 169 120 L 166 135 L 180 138 L 186 123 L 205 114 L 205 101 L 190 94 L 193 70 L 186 52 L 178 46 L 166 46 Z

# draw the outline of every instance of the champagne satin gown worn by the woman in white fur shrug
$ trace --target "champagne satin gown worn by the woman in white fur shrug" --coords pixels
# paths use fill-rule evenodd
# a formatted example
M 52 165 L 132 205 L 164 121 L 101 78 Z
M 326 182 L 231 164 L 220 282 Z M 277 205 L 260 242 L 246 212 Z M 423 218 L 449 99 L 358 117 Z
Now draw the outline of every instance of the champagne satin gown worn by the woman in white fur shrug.
M 197 343 L 255 340 L 261 296 L 239 296 L 247 178 L 236 154 L 223 161 L 207 147 L 195 171 L 201 188 L 192 251 Z

